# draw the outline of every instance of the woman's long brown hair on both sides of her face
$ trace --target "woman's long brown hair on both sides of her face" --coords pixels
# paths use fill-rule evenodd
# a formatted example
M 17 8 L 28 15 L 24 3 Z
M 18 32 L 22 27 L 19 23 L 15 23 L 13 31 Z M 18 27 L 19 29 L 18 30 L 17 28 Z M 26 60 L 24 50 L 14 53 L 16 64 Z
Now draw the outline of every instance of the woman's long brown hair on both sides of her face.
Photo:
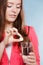
M 20 13 L 19 13 L 17 19 L 15 20 L 15 22 L 13 23 L 13 26 L 18 29 L 19 33 L 21 33 L 23 35 L 23 37 L 25 37 L 25 36 L 27 36 L 27 34 L 23 30 L 23 28 L 24 28 L 24 25 L 23 25 L 24 24 L 24 14 L 23 14 L 22 5 L 23 5 L 23 2 L 21 3 Z M 5 29 L 6 7 L 7 7 L 7 0 L 0 0 L 0 39 L 2 38 L 4 29 Z

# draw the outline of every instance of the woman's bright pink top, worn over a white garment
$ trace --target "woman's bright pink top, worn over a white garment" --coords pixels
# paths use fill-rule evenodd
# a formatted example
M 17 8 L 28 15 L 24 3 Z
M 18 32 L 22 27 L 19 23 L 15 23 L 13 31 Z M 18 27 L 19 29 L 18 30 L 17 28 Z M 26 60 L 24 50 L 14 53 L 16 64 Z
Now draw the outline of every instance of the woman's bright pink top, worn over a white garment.
M 33 27 L 29 26 L 29 35 L 28 37 L 30 38 L 33 47 L 34 47 L 34 52 L 36 55 L 36 62 L 37 65 L 40 65 L 40 57 L 39 57 L 39 51 L 38 51 L 38 40 L 36 33 L 33 29 Z M 25 26 L 26 32 L 28 32 L 28 26 Z M 10 61 L 8 60 L 7 54 L 6 54 L 6 49 L 4 49 L 4 53 L 2 56 L 2 59 L 0 61 L 0 65 L 24 65 L 23 59 L 20 55 L 20 50 L 18 48 L 18 43 L 15 43 L 15 45 L 12 46 L 12 52 L 11 52 L 11 57 Z

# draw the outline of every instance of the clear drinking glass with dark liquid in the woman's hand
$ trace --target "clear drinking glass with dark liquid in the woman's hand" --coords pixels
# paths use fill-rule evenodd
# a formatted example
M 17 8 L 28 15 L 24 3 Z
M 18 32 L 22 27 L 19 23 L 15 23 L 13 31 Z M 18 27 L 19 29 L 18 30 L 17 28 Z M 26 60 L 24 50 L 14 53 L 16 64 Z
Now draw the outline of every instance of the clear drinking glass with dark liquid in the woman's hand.
M 29 55 L 29 52 L 33 51 L 32 43 L 28 41 L 22 42 L 21 50 L 23 55 Z

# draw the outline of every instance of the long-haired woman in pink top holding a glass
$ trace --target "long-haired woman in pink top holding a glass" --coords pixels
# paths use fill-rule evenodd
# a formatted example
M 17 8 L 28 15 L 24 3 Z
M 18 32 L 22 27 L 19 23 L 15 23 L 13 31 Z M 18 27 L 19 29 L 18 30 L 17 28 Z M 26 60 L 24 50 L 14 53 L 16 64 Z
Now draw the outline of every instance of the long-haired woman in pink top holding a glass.
M 20 42 L 25 38 L 34 47 L 28 56 L 20 51 Z M 0 0 L 0 65 L 8 64 L 40 65 L 37 36 L 23 23 L 22 0 Z

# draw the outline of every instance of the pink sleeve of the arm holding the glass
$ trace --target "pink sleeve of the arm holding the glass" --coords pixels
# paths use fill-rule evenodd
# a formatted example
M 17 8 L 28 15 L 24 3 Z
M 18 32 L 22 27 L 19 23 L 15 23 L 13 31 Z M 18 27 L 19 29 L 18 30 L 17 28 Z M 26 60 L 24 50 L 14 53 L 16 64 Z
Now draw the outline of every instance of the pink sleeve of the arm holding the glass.
M 30 38 L 33 47 L 34 47 L 34 53 L 36 56 L 36 63 L 37 65 L 40 65 L 40 57 L 39 57 L 39 49 L 38 49 L 38 38 L 34 31 L 34 28 L 30 26 L 30 31 L 28 37 Z

